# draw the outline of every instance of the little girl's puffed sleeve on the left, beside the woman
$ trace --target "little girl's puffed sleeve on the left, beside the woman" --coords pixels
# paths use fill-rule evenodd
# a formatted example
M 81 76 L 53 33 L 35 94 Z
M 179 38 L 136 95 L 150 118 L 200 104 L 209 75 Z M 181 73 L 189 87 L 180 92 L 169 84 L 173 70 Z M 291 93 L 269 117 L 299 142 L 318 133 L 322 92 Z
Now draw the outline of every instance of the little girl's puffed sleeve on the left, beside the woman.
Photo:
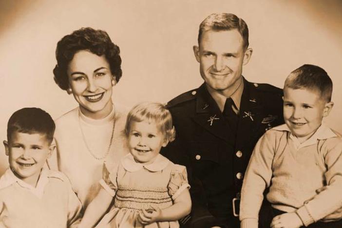
M 102 168 L 102 179 L 99 181 L 103 189 L 105 189 L 112 197 L 115 196 L 117 190 L 117 176 L 118 166 L 114 165 L 111 171 L 107 168 L 106 163 L 103 164 Z

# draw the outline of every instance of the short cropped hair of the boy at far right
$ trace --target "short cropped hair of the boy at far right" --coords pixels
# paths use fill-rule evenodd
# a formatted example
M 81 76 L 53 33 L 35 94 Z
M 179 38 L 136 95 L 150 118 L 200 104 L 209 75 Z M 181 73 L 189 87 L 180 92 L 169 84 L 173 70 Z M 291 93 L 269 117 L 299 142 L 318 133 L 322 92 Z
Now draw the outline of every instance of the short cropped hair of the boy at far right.
M 285 88 L 317 90 L 327 102 L 331 101 L 332 81 L 326 71 L 315 65 L 304 64 L 287 76 Z

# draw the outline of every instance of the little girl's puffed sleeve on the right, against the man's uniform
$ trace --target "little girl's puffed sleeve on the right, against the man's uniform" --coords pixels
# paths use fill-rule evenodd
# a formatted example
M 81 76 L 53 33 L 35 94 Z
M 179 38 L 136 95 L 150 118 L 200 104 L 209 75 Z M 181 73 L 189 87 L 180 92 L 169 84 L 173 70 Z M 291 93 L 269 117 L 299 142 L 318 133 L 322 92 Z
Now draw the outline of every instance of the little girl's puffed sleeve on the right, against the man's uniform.
M 174 165 L 170 175 L 168 190 L 172 200 L 174 200 L 183 190 L 190 189 L 190 185 L 188 184 L 188 174 L 185 166 Z

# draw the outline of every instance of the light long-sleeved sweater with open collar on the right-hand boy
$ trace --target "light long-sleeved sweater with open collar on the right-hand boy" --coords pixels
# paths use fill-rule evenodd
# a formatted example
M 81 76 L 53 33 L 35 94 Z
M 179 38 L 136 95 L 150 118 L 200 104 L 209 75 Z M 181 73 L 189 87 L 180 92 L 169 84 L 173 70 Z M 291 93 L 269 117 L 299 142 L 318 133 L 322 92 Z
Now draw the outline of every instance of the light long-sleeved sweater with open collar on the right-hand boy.
M 284 124 L 267 131 L 250 158 L 241 191 L 241 228 L 257 228 L 266 196 L 272 207 L 296 212 L 305 226 L 342 207 L 342 138 L 321 125 L 299 143 Z M 316 190 L 327 186 L 317 194 Z

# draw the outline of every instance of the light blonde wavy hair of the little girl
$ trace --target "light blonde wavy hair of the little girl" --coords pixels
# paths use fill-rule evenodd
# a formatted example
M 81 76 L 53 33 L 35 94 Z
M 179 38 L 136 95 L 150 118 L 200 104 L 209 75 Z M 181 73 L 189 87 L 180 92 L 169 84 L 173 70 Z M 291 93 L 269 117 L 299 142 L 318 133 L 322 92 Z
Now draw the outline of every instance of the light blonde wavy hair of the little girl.
M 170 111 L 162 104 L 156 102 L 144 102 L 137 104 L 127 115 L 125 133 L 130 132 L 132 121 L 148 121 L 155 123 L 160 131 L 165 134 L 165 138 L 172 142 L 175 138 L 175 130 L 172 125 L 172 116 Z

